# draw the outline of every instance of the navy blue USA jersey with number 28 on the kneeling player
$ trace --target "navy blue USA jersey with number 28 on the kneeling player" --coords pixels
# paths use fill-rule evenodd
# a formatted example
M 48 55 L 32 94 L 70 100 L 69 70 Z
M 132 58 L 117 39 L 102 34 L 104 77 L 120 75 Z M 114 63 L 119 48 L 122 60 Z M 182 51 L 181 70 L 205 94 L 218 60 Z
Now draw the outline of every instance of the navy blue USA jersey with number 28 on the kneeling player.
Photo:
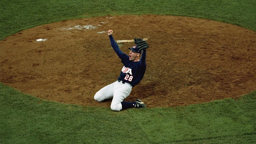
M 124 64 L 118 80 L 127 82 L 133 87 L 136 86 L 140 83 L 146 71 L 146 50 L 143 50 L 140 61 L 133 62 L 129 60 L 129 56 L 127 54 L 124 54 L 120 50 L 113 36 L 109 36 L 109 38 L 112 48 L 118 57 L 122 60 L 121 62 Z

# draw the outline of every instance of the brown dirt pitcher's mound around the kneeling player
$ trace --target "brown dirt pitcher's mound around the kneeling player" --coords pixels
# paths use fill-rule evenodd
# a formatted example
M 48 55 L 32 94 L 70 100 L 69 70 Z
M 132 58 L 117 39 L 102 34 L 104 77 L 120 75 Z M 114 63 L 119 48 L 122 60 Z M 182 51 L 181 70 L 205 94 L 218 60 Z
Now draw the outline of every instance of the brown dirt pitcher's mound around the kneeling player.
M 0 42 L 0 82 L 46 100 L 110 107 L 111 100 L 93 98 L 117 80 L 123 66 L 110 46 L 109 29 L 115 40 L 148 38 L 150 46 L 146 74 L 126 101 L 184 106 L 256 90 L 256 32 L 157 15 L 66 20 L 9 36 Z M 127 54 L 131 46 L 120 43 Z

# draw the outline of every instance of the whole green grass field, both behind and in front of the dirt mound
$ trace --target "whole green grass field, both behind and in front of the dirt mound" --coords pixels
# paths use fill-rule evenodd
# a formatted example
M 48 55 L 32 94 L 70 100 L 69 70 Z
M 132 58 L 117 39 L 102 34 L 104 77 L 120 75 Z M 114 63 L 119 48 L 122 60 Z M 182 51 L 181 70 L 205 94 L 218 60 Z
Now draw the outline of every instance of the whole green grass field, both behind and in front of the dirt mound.
M 122 14 L 191 16 L 256 31 L 254 0 L 1 0 L 0 40 L 60 20 Z M 34 98 L 0 83 L 0 143 L 253 144 L 256 91 L 239 100 L 113 112 Z

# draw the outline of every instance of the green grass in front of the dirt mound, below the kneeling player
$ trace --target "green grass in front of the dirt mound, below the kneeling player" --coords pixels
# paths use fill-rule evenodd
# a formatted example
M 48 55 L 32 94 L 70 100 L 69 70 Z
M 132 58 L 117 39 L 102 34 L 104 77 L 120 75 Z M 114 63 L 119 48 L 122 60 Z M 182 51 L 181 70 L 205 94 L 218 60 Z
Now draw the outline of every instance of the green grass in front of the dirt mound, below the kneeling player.
M 114 112 L 0 84 L 0 143 L 254 143 L 256 91 L 204 104 Z

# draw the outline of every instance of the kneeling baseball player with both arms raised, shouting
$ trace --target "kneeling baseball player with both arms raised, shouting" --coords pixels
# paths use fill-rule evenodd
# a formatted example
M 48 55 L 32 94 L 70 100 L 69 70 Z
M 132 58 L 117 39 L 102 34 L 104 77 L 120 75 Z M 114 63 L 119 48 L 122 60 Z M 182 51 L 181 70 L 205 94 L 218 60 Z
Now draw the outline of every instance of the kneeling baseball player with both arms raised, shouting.
M 130 53 L 127 55 L 120 50 L 112 34 L 113 31 L 108 30 L 111 46 L 124 66 L 117 81 L 96 92 L 94 99 L 102 102 L 103 100 L 113 98 L 110 108 L 114 111 L 126 110 L 128 108 L 146 108 L 146 105 L 140 99 L 134 102 L 124 102 L 124 99 L 130 95 L 132 87 L 136 86 L 145 74 L 146 48 L 148 48 L 148 44 L 142 39 L 135 38 L 134 43 L 137 45 L 128 48 Z

